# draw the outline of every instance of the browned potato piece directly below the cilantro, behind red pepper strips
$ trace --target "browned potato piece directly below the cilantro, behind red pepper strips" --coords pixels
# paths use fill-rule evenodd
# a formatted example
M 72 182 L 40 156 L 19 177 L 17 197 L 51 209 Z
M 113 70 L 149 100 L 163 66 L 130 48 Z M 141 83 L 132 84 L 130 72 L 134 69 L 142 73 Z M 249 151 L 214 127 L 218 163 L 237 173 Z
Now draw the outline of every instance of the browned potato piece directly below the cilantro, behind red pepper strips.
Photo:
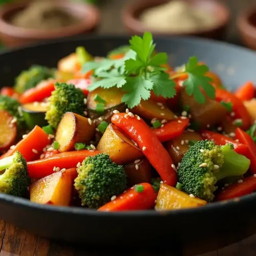
M 131 111 L 147 119 L 157 118 L 168 121 L 174 119 L 174 113 L 172 111 L 164 105 L 159 105 L 159 102 L 155 102 L 152 99 L 141 100 L 140 104 L 135 106 Z

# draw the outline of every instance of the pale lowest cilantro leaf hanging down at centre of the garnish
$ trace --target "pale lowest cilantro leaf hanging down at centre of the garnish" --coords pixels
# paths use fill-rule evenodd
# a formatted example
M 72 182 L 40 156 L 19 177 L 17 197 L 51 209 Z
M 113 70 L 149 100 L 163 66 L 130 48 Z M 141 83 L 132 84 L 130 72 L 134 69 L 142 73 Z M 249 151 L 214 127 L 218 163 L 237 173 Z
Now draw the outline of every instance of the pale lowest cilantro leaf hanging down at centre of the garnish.
M 153 89 L 153 86 L 153 81 L 145 79 L 143 76 L 127 77 L 126 83 L 122 87 L 122 90 L 127 91 L 127 93 L 123 95 L 122 102 L 127 104 L 129 108 L 134 108 L 141 99 L 150 98 L 150 90 Z

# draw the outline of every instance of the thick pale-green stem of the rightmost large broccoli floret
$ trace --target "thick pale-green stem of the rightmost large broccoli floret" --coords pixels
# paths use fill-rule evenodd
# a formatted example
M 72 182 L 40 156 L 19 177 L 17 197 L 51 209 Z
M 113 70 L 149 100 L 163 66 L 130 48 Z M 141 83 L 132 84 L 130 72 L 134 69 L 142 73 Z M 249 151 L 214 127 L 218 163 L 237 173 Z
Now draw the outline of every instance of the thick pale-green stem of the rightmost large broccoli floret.
M 222 146 L 224 163 L 219 172 L 215 174 L 217 180 L 222 180 L 229 176 L 244 175 L 249 166 L 250 160 L 243 155 L 232 150 L 229 145 Z

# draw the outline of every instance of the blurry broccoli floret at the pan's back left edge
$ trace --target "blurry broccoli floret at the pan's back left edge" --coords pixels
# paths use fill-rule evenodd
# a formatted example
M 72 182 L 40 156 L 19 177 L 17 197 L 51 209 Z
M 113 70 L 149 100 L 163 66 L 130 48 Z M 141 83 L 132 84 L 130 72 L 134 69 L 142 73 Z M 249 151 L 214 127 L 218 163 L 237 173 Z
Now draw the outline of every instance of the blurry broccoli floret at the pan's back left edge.
M 16 77 L 14 90 L 17 93 L 23 93 L 28 89 L 34 88 L 41 80 L 54 78 L 54 76 L 55 69 L 33 65 Z

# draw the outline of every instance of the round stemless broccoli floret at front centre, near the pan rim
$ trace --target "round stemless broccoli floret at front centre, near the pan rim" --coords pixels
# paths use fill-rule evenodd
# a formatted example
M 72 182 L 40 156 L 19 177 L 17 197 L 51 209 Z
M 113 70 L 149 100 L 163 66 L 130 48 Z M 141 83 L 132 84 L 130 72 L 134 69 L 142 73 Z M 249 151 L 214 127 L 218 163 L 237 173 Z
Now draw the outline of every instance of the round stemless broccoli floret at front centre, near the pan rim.
M 126 174 L 121 165 L 113 163 L 108 154 L 87 157 L 78 168 L 75 188 L 82 205 L 98 209 L 111 197 L 126 189 Z

